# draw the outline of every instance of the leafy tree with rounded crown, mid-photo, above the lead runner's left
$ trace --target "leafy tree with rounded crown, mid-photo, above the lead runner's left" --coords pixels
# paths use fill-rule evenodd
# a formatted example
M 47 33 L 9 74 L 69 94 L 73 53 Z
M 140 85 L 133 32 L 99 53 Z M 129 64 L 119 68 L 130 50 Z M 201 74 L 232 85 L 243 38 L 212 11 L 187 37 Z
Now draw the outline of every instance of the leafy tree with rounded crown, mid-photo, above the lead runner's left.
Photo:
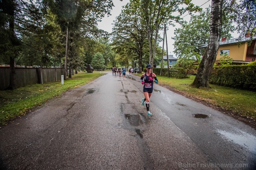
M 139 72 L 142 68 L 142 58 L 147 49 L 147 34 L 142 22 L 140 11 L 133 4 L 128 3 L 125 9 L 114 21 L 112 41 L 117 51 L 130 50 L 130 59 L 139 61 Z

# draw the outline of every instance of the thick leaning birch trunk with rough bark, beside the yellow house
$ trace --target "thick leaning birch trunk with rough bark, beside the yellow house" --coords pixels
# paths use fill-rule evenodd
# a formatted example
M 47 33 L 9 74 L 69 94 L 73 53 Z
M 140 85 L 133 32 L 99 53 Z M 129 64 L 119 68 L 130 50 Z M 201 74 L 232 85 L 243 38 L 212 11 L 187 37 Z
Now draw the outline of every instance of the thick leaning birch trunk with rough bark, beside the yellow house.
M 212 0 L 210 20 L 210 40 L 205 54 L 199 64 L 199 68 L 192 86 L 196 88 L 210 88 L 209 80 L 211 70 L 216 60 L 219 49 L 220 29 L 222 18 L 223 0 Z

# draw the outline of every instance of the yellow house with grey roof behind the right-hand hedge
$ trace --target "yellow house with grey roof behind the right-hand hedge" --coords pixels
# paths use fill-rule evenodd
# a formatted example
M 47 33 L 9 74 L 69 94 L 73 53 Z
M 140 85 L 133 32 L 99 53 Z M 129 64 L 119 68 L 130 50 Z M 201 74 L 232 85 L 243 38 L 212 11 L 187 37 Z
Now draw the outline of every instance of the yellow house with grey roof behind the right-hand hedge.
M 256 37 L 253 37 L 253 41 L 248 46 L 247 41 L 250 37 L 245 37 L 241 41 L 238 38 L 227 40 L 222 38 L 218 49 L 218 54 L 215 62 L 219 63 L 222 54 L 227 54 L 229 58 L 232 58 L 233 64 L 246 64 L 255 61 L 256 58 Z M 240 46 L 238 46 L 240 43 Z M 208 44 L 198 46 L 198 48 L 207 48 Z

